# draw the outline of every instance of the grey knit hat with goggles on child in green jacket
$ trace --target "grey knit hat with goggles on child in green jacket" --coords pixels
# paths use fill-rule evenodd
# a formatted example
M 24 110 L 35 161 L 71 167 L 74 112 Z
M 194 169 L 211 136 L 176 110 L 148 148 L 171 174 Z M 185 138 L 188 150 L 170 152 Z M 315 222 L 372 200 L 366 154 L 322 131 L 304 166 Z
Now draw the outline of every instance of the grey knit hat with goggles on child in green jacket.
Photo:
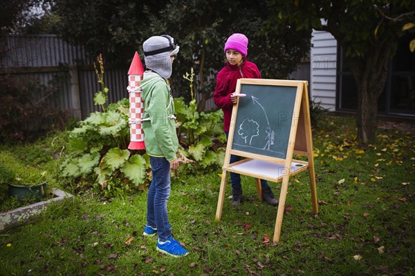
M 170 56 L 176 55 L 179 48 L 167 34 L 150 37 L 142 43 L 145 66 L 168 79 L 172 75 Z

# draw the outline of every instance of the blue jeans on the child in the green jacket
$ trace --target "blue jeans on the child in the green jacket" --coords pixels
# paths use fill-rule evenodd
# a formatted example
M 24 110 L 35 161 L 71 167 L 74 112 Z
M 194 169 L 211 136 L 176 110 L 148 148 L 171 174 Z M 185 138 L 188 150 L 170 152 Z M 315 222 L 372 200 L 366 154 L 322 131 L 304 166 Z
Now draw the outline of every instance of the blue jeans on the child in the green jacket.
M 158 239 L 172 237 L 167 219 L 167 199 L 170 197 L 170 163 L 165 157 L 150 156 L 153 179 L 147 195 L 147 225 L 157 228 Z

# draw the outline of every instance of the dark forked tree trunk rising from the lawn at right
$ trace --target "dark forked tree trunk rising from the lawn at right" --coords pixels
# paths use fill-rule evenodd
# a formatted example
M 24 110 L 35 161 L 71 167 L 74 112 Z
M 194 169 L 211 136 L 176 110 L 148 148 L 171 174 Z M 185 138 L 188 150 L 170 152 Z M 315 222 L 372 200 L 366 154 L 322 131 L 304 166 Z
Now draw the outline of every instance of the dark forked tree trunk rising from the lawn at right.
M 346 57 L 358 87 L 358 140 L 367 143 L 376 141 L 378 99 L 385 88 L 387 62 L 393 41 L 379 43 L 365 53 L 365 57 Z

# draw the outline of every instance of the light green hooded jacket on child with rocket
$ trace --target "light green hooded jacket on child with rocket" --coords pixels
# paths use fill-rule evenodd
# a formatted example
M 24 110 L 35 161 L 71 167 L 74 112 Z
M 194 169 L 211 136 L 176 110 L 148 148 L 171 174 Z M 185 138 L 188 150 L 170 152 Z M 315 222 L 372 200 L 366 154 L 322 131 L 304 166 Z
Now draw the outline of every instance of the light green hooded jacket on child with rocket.
M 173 161 L 176 159 L 178 139 L 170 87 L 166 79 L 155 72 L 146 71 L 140 81 L 140 88 L 144 101 L 142 130 L 147 153 Z

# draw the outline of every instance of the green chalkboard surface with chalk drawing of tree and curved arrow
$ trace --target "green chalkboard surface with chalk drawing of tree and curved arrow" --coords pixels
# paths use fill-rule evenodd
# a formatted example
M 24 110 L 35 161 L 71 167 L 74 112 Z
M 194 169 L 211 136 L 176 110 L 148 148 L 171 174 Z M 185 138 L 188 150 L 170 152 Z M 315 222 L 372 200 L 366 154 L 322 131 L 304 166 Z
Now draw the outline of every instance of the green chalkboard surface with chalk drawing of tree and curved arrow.
M 232 150 L 286 159 L 297 86 L 241 83 Z

